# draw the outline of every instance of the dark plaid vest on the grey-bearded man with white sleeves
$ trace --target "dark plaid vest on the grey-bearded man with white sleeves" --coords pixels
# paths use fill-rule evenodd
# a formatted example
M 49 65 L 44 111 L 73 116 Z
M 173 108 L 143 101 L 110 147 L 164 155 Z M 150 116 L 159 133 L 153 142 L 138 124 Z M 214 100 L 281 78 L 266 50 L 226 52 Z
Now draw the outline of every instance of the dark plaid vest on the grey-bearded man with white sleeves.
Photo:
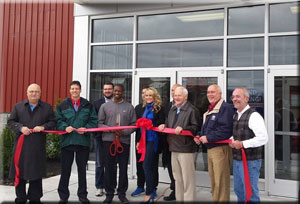
M 249 108 L 246 110 L 241 118 L 238 120 L 238 114 L 233 116 L 233 139 L 234 140 L 248 140 L 255 137 L 254 132 L 249 128 L 250 115 L 255 112 L 254 109 Z M 246 148 L 245 149 L 247 160 L 257 160 L 263 158 L 263 146 Z M 232 156 L 235 160 L 242 160 L 242 151 L 240 149 L 232 149 Z

